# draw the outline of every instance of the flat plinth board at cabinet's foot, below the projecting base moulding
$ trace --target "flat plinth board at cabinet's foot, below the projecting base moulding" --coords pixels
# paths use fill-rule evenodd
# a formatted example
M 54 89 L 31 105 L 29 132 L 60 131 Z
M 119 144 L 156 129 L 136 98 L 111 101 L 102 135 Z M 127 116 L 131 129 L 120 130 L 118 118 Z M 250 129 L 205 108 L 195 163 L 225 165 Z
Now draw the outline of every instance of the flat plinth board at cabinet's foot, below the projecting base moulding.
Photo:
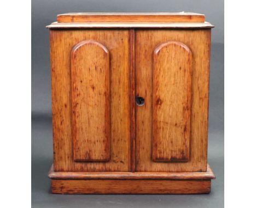
M 195 194 L 210 193 L 211 180 L 51 180 L 62 194 Z

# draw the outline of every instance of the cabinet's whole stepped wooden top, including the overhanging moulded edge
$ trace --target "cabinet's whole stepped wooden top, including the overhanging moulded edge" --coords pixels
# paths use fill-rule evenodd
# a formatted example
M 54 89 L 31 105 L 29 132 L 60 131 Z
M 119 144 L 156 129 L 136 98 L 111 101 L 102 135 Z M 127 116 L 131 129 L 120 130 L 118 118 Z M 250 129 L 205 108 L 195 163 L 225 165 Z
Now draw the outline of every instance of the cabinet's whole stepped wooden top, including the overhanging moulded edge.
M 187 25 L 186 25 L 187 24 Z M 66 13 L 48 28 L 213 27 L 197 13 Z

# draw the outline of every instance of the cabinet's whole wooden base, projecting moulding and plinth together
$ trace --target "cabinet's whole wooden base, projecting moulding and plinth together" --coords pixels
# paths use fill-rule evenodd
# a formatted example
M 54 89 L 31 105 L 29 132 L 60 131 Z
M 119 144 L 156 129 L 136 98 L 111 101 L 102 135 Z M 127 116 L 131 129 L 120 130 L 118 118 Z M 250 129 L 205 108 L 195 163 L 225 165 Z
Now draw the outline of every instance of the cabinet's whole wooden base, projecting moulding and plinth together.
M 201 194 L 210 193 L 211 179 L 207 172 L 158 173 L 79 173 L 49 172 L 51 191 L 61 194 Z

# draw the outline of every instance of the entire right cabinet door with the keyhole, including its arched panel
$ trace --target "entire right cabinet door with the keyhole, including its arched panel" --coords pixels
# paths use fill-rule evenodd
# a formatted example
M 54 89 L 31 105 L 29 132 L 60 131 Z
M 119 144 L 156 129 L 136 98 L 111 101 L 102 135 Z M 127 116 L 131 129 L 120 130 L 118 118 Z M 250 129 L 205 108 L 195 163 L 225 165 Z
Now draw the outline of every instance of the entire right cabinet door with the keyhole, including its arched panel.
M 136 30 L 136 171 L 207 167 L 210 30 Z

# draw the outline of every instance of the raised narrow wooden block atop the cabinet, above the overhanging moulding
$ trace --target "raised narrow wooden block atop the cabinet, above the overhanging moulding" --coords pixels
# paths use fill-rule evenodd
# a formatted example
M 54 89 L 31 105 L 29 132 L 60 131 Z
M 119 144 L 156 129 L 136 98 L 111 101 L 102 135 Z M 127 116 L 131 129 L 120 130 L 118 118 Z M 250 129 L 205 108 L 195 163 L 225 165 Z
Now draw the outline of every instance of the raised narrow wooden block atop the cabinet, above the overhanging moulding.
M 57 15 L 58 22 L 205 22 L 196 13 L 67 13 Z

